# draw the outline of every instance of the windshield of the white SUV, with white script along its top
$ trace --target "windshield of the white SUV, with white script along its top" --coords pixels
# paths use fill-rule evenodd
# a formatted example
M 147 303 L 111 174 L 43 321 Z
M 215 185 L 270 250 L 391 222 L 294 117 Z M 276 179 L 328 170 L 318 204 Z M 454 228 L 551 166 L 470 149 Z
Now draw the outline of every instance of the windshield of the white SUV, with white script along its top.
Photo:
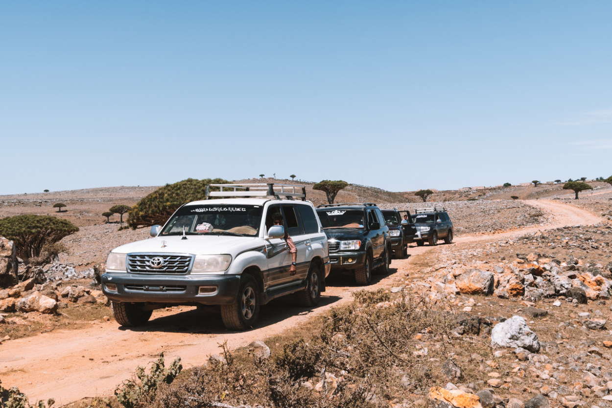
M 256 236 L 261 225 L 260 205 L 186 205 L 168 221 L 161 235 Z

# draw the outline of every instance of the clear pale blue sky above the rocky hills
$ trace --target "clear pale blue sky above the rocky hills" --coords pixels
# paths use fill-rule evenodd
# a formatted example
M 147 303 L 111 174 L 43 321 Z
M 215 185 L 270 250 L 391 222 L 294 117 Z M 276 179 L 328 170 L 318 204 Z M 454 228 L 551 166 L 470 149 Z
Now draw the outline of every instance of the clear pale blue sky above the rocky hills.
M 1 2 L 0 194 L 612 175 L 612 2 Z

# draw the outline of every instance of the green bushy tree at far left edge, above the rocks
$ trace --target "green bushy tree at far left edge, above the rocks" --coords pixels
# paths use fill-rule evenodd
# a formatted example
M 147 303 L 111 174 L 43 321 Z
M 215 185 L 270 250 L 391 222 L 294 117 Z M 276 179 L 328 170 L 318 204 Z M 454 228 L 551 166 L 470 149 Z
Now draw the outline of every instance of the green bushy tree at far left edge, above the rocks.
M 78 227 L 61 218 L 21 215 L 0 219 L 0 236 L 15 243 L 17 256 L 24 263 L 40 257 L 45 244 L 56 243 L 64 236 L 78 231 Z

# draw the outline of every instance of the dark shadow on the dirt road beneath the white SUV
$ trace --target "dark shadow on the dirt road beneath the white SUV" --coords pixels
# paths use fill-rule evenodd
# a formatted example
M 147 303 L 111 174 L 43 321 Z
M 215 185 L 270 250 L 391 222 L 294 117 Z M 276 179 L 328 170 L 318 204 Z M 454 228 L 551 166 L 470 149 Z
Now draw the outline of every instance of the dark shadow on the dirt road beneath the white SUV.
M 252 330 L 274 325 L 294 315 L 312 314 L 316 309 L 337 303 L 340 300 L 341 297 L 326 296 L 325 293 L 321 293 L 321 300 L 319 300 L 317 306 L 314 308 L 302 308 L 297 306 L 295 298 L 291 295 L 274 299 L 270 303 L 261 306 L 257 325 L 253 327 Z M 157 316 L 156 314 L 159 312 L 154 312 L 151 320 L 146 324 L 139 327 L 120 326 L 119 330 L 185 334 L 236 333 L 233 330 L 225 328 L 218 306 L 208 306 L 203 309 L 196 309 L 189 306 L 182 306 L 182 308 L 188 310 L 165 315 L 158 314 Z M 245 330 L 245 332 L 248 331 L 250 330 Z

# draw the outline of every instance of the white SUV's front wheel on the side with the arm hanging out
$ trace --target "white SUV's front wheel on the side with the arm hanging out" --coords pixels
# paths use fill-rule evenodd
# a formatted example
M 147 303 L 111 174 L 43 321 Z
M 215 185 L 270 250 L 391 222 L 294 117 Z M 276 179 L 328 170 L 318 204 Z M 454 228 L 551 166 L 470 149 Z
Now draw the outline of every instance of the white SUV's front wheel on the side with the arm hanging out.
M 223 324 L 230 330 L 247 330 L 259 317 L 259 286 L 255 278 L 242 274 L 236 302 L 221 305 Z

